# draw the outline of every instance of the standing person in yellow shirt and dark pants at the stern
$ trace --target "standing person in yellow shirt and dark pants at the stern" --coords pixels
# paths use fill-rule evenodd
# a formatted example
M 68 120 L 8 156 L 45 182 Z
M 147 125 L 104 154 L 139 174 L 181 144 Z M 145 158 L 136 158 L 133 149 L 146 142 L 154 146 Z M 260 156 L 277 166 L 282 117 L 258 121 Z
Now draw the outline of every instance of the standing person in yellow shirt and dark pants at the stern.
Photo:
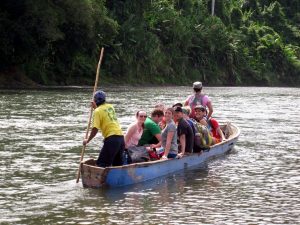
M 97 159 L 100 167 L 123 165 L 122 155 L 125 148 L 124 136 L 117 120 L 115 109 L 111 104 L 106 103 L 104 91 L 97 91 L 92 102 L 94 110 L 93 128 L 88 139 L 83 141 L 86 145 L 98 133 L 102 132 L 104 144 Z

